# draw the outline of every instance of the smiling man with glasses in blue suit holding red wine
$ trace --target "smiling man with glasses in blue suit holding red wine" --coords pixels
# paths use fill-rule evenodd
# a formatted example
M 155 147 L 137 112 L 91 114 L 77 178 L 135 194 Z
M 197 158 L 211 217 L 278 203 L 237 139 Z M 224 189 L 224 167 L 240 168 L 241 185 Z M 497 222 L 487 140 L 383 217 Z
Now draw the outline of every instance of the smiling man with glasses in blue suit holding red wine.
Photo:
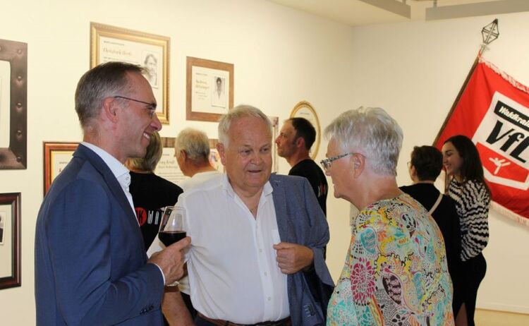
M 162 128 L 155 110 L 139 66 L 110 62 L 80 79 L 83 143 L 37 217 L 37 325 L 163 325 L 164 284 L 182 277 L 190 239 L 147 261 L 123 166 Z

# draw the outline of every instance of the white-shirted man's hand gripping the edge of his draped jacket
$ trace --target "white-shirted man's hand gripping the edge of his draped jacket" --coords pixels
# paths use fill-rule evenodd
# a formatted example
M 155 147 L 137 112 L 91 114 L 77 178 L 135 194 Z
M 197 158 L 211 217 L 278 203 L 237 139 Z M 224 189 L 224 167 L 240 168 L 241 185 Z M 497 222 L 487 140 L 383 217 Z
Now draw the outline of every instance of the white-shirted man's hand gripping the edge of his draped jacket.
M 280 242 L 274 245 L 277 250 L 277 265 L 283 274 L 294 274 L 312 265 L 312 249 L 296 243 Z

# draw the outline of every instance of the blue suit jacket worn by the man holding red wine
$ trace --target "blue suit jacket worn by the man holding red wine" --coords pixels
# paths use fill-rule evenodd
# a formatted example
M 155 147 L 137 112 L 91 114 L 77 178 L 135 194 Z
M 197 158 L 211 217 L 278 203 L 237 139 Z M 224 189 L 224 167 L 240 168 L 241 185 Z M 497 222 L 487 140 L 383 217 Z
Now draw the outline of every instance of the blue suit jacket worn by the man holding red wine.
M 37 217 L 37 325 L 163 325 L 163 291 L 117 179 L 79 145 Z

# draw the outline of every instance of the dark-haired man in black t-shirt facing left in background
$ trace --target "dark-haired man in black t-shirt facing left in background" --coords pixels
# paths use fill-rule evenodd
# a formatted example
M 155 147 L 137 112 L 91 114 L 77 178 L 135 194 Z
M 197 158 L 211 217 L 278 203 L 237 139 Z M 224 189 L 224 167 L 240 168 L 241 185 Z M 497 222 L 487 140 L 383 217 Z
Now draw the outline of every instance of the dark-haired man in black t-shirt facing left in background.
M 316 139 L 315 128 L 307 119 L 285 120 L 275 142 L 277 154 L 290 164 L 289 176 L 303 176 L 308 179 L 318 203 L 327 215 L 327 179 L 322 169 L 309 156 L 310 147 Z

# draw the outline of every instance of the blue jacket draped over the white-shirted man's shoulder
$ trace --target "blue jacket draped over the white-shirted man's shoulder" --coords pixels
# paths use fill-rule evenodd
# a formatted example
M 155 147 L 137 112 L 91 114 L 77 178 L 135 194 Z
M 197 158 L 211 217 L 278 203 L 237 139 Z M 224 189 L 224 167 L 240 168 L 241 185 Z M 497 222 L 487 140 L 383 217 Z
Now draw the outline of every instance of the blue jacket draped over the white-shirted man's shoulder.
M 323 256 L 329 242 L 327 219 L 307 179 L 272 174 L 269 181 L 281 241 L 308 246 L 314 253 L 312 271 L 287 277 L 292 325 L 325 325 L 327 303 L 334 290 Z

